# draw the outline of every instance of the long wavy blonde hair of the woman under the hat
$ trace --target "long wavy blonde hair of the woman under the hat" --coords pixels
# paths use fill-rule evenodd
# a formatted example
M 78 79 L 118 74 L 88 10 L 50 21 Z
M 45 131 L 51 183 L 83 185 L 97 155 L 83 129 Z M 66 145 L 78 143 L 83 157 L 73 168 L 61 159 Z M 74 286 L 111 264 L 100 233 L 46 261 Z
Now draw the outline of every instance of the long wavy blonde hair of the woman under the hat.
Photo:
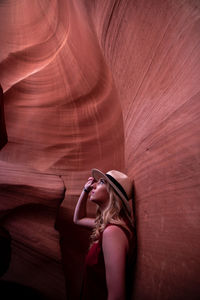
M 132 236 L 133 223 L 131 223 L 126 217 L 126 208 L 110 184 L 106 184 L 109 193 L 108 205 L 103 212 L 101 212 L 99 207 L 97 208 L 95 227 L 90 237 L 90 247 L 99 239 L 100 234 L 104 231 L 108 224 L 120 225 L 127 229 L 130 233 L 130 236 Z

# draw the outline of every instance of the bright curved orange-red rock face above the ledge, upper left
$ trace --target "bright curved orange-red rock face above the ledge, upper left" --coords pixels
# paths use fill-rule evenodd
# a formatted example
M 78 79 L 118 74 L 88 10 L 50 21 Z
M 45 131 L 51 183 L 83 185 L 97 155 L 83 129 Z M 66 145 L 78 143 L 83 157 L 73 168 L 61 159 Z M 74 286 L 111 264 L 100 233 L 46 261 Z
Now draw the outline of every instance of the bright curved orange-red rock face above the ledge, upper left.
M 2 56 L 10 40 L 0 64 L 10 142 L 2 159 L 16 162 L 14 147 L 18 163 L 41 171 L 100 167 L 107 156 L 110 166 L 123 167 L 121 107 L 84 8 L 64 0 L 33 4 L 2 6 L 5 20 L 13 13 L 17 24 L 1 36 Z

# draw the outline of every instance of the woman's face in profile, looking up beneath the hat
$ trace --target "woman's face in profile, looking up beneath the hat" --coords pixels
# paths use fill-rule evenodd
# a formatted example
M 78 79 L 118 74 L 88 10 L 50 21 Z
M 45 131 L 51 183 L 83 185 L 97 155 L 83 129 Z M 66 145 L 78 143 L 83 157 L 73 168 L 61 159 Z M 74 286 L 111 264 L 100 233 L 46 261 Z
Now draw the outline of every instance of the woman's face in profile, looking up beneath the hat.
M 103 178 L 92 184 L 90 192 L 90 201 L 98 204 L 100 208 L 105 208 L 109 201 L 109 193 L 107 191 L 107 184 Z

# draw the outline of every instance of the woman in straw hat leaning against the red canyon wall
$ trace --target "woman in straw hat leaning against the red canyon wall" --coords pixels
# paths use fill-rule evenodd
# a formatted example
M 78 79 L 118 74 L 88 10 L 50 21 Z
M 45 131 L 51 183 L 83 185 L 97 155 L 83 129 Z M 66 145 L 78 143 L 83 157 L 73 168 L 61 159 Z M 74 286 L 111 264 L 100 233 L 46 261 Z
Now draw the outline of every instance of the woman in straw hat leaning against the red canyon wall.
M 74 222 L 93 228 L 93 232 L 81 299 L 125 300 L 129 297 L 129 271 L 135 248 L 128 203 L 132 194 L 128 176 L 116 170 L 104 174 L 93 169 L 92 177 L 84 186 L 75 208 Z M 86 216 L 88 198 L 97 204 L 96 219 Z

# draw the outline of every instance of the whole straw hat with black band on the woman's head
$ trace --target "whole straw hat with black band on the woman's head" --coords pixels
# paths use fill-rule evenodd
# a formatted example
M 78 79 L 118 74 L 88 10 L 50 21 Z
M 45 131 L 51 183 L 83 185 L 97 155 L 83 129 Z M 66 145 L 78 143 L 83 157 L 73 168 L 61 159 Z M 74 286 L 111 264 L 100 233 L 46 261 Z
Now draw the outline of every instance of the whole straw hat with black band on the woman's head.
M 131 217 L 131 209 L 128 201 L 133 196 L 133 185 L 128 176 L 116 170 L 111 170 L 104 174 L 98 169 L 92 169 L 92 177 L 97 181 L 100 178 L 104 178 L 113 187 L 121 198 L 129 217 Z

